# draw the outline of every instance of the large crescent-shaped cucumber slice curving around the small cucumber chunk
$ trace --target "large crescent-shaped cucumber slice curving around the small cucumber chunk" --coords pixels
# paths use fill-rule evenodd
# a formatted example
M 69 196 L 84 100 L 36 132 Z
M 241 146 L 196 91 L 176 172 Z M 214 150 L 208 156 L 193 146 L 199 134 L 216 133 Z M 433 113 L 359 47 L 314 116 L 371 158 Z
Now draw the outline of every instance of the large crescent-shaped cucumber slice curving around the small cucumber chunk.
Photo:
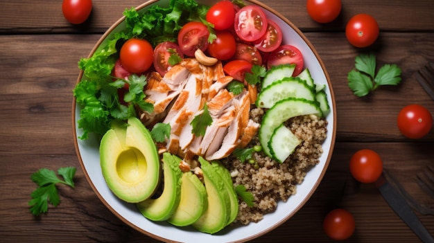
M 272 157 L 268 149 L 268 141 L 270 141 L 275 129 L 284 123 L 284 121 L 295 116 L 308 114 L 316 114 L 322 117 L 322 111 L 318 102 L 303 98 L 286 98 L 268 109 L 263 116 L 261 127 L 259 128 L 259 141 L 263 152 Z

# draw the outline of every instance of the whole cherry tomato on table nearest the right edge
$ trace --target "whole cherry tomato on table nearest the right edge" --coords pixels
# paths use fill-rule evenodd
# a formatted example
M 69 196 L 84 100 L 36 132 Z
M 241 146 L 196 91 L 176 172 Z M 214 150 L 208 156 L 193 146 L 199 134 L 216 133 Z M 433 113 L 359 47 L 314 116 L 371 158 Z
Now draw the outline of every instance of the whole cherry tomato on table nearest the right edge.
M 422 105 L 407 105 L 399 111 L 397 118 L 398 128 L 408 138 L 422 138 L 433 127 L 433 116 Z

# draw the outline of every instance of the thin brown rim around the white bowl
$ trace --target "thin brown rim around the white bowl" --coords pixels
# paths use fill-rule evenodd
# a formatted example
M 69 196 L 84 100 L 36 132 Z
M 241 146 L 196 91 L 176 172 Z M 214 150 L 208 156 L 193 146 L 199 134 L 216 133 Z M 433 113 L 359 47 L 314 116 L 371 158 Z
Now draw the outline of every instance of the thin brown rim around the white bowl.
M 145 3 L 142 3 L 140 6 L 138 6 L 136 8 L 136 10 L 141 10 L 142 8 L 146 8 L 147 6 L 150 6 L 153 3 L 158 2 L 159 0 L 149 0 L 146 1 Z M 279 222 L 277 222 L 276 224 L 270 226 L 269 228 L 267 228 L 266 231 L 261 231 L 259 233 L 256 233 L 254 235 L 251 235 L 250 237 L 246 237 L 244 239 L 241 240 L 237 240 L 235 242 L 247 242 L 249 240 L 253 240 L 257 237 L 260 237 L 262 235 L 266 235 L 266 233 L 269 233 L 270 231 L 273 231 L 275 228 L 277 228 L 278 226 L 280 226 L 281 224 L 283 224 L 284 222 L 286 222 L 288 219 L 290 219 L 290 217 L 293 217 L 293 215 L 295 215 L 295 213 L 298 212 L 298 210 L 300 210 L 300 208 L 302 208 L 302 206 L 304 206 L 304 204 L 306 204 L 306 202 L 311 198 L 311 196 L 313 195 L 313 192 L 315 192 L 315 190 L 318 188 L 318 186 L 320 185 L 322 178 L 324 177 L 325 172 L 327 171 L 327 168 L 329 167 L 329 163 L 331 161 L 331 156 L 333 154 L 333 149 L 334 149 L 334 145 L 335 145 L 335 140 L 336 140 L 336 101 L 335 101 L 335 95 L 333 92 L 333 88 L 331 85 L 331 81 L 330 81 L 330 77 L 329 77 L 329 73 L 327 73 L 327 70 L 325 69 L 324 63 L 322 62 L 320 55 L 318 55 L 318 52 L 315 50 L 315 48 L 313 48 L 313 45 L 311 44 L 311 42 L 309 42 L 309 39 L 306 38 L 306 36 L 304 36 L 304 34 L 302 33 L 302 31 L 297 28 L 297 26 L 295 26 L 291 21 L 289 21 L 288 19 L 286 19 L 286 17 L 284 17 L 283 15 L 281 15 L 279 12 L 277 12 L 276 10 L 266 6 L 264 3 L 261 3 L 257 0 L 244 0 L 245 2 L 260 6 L 261 8 L 264 8 L 268 11 L 270 11 L 272 14 L 276 15 L 277 17 L 279 17 L 280 19 L 282 19 L 286 24 L 288 24 L 288 26 L 290 26 L 291 28 L 293 28 L 293 30 L 295 30 L 295 32 L 300 35 L 300 37 L 304 40 L 304 42 L 306 42 L 306 44 L 309 46 L 309 48 L 311 49 L 311 51 L 313 52 L 313 54 L 315 55 L 315 57 L 317 58 L 318 62 L 320 63 L 320 66 L 322 68 L 322 71 L 327 79 L 327 85 L 329 86 L 329 91 L 330 91 L 330 95 L 331 95 L 331 102 L 332 105 L 331 107 L 332 109 L 332 114 L 333 114 L 333 127 L 332 127 L 332 137 L 331 137 L 331 144 L 330 144 L 330 150 L 329 150 L 329 154 L 327 156 L 327 160 L 326 163 L 324 165 L 324 168 L 320 174 L 320 177 L 318 177 L 318 180 L 315 181 L 314 186 L 311 188 L 311 190 L 309 191 L 308 195 L 302 200 L 302 203 L 300 203 L 289 215 L 287 215 L 286 217 L 284 217 L 284 219 L 281 219 Z M 96 49 L 98 48 L 98 46 L 101 45 L 101 43 L 103 42 L 103 40 L 112 32 L 112 30 L 114 30 L 114 28 L 116 28 L 117 26 L 119 26 L 119 24 L 121 24 L 121 22 L 123 22 L 123 20 L 125 19 L 125 17 L 121 17 L 118 21 L 116 21 L 112 26 L 110 26 L 110 28 L 103 34 L 103 36 L 98 39 L 98 42 L 96 43 L 96 45 L 94 46 L 94 48 L 92 48 L 92 51 L 90 51 L 88 57 L 91 57 Z M 76 84 L 78 84 L 78 82 L 80 82 L 80 80 L 83 78 L 83 71 L 80 71 L 80 75 L 78 75 L 78 79 L 76 81 Z M 92 183 L 92 180 L 89 177 L 89 174 L 87 174 L 87 171 L 85 169 L 85 165 L 83 163 L 83 160 L 81 158 L 81 154 L 80 154 L 80 150 L 78 149 L 78 140 L 77 140 L 77 133 L 76 133 L 76 98 L 73 97 L 73 102 L 72 102 L 72 132 L 73 132 L 73 136 L 74 136 L 74 146 L 76 148 L 76 154 L 78 156 L 78 161 L 80 162 L 80 167 L 82 168 L 85 177 L 87 179 L 87 181 L 89 182 L 89 185 L 92 187 L 92 190 L 94 190 L 94 192 L 96 193 L 96 195 L 98 196 L 98 198 L 103 202 L 103 204 L 114 214 L 116 215 L 116 217 L 118 217 L 119 219 L 121 219 L 122 222 L 124 222 L 125 224 L 127 224 L 128 226 L 130 226 L 131 228 L 134 228 L 136 231 L 139 231 L 141 233 L 144 233 L 145 235 L 148 235 L 149 237 L 153 237 L 156 240 L 161 240 L 163 242 L 176 242 L 176 241 L 172 241 L 172 240 L 168 240 L 166 238 L 160 237 L 158 235 L 154 235 L 153 233 L 150 233 L 148 231 L 144 231 L 143 229 L 135 226 L 134 224 L 132 224 L 131 222 L 128 221 L 128 219 L 125 219 L 125 217 L 123 217 L 122 215 L 120 215 L 119 213 L 117 213 L 116 210 L 114 210 L 110 204 L 107 203 L 107 201 L 105 201 L 105 199 L 101 196 L 101 194 L 98 192 L 98 190 L 96 190 L 96 187 L 94 186 L 94 183 Z

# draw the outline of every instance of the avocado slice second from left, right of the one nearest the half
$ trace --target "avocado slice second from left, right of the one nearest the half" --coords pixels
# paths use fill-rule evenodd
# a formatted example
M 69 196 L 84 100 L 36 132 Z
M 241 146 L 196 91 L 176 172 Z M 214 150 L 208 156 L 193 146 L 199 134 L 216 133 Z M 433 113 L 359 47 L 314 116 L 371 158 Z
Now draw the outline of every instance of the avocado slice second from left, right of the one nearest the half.
M 208 206 L 207 190 L 192 172 L 182 174 L 181 199 L 175 213 L 167 222 L 175 226 L 187 226 L 198 220 Z

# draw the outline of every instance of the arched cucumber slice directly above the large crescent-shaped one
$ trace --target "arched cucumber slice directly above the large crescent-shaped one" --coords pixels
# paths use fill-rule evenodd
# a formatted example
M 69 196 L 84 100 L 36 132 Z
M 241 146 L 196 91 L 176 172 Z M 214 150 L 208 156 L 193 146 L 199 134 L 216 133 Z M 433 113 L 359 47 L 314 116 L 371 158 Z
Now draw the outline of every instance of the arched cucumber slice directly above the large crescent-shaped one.
M 279 100 L 290 97 L 315 100 L 315 91 L 300 78 L 283 78 L 262 89 L 256 105 L 261 108 L 271 108 Z

